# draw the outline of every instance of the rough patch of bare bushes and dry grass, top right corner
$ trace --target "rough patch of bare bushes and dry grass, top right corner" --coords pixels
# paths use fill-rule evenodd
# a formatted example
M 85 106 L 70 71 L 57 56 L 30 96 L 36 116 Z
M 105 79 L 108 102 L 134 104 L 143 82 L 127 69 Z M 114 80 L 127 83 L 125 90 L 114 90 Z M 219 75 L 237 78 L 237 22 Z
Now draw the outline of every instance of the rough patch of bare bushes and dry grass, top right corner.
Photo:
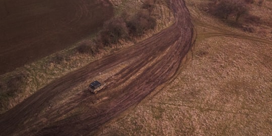
M 269 35 L 270 31 L 264 29 L 271 26 L 271 2 L 253 1 L 253 0 L 214 0 L 206 1 L 199 6 L 199 9 L 220 18 L 223 22 L 237 27 L 249 33 L 261 33 Z M 265 4 L 265 6 L 263 6 Z

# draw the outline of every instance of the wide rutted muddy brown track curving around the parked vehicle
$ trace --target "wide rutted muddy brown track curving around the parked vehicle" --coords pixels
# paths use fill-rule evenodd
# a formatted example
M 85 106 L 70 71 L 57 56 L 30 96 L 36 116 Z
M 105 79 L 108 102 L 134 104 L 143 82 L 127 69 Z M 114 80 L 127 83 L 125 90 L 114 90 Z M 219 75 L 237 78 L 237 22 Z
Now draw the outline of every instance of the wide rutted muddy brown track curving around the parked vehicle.
M 175 23 L 169 28 L 59 78 L 1 115 L 1 135 L 88 135 L 173 78 L 192 46 L 195 33 L 185 3 L 170 0 L 170 8 Z M 96 95 L 82 90 L 72 100 L 45 112 L 54 98 L 124 61 L 132 62 L 105 80 L 108 84 L 105 90 Z M 106 101 L 94 102 L 105 97 Z M 78 112 L 61 118 L 78 107 L 81 107 Z

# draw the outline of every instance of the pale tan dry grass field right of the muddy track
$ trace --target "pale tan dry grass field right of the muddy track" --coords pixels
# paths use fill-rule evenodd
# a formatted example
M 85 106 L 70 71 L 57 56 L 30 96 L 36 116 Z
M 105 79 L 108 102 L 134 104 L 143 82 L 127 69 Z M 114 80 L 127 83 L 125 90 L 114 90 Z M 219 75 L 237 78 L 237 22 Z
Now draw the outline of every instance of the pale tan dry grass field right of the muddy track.
M 272 134 L 272 26 L 243 32 L 200 11 L 205 2 L 186 1 L 197 39 L 176 78 L 94 135 Z M 262 21 L 263 5 L 251 5 Z

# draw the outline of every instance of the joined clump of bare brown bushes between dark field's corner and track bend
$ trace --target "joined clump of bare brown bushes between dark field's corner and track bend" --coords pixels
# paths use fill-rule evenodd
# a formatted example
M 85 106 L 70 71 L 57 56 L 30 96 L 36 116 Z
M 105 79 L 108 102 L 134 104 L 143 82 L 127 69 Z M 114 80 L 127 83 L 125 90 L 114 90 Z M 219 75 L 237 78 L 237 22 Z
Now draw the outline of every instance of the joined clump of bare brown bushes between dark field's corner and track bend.
M 154 29 L 156 20 L 151 16 L 154 9 L 154 0 L 146 0 L 143 2 L 142 11 L 134 17 L 129 17 L 123 13 L 124 18 L 113 18 L 105 22 L 103 29 L 95 39 L 97 48 L 104 46 L 112 47 L 113 44 L 119 42 L 120 39 L 128 39 L 130 36 L 141 36 L 146 30 Z

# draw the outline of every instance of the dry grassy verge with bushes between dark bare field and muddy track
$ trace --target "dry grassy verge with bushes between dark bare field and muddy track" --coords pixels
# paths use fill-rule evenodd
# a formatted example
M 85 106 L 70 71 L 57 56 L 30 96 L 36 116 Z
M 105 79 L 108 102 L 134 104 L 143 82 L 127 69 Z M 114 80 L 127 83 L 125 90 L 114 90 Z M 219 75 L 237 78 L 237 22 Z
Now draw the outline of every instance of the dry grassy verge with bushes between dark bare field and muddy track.
M 143 5 L 142 1 L 116 1 L 116 17 L 104 25 L 103 30 L 101 30 L 101 33 L 96 36 L 96 38 L 92 36 L 83 39 L 76 43 L 72 48 L 64 49 L 41 60 L 19 67 L 11 73 L 0 75 L 1 92 L 6 92 L 8 89 L 6 85 L 7 79 L 12 78 L 21 71 L 24 71 L 24 73 L 28 75 L 27 78 L 24 79 L 24 82 L 18 86 L 19 90 L 22 91 L 18 91 L 18 93 L 13 96 L 6 97 L 6 95 L 4 95 L 5 99 L 2 97 L 3 93 L 1 93 L 0 101 L 2 104 L 0 105 L 0 114 L 22 102 L 53 80 L 62 77 L 67 73 L 76 71 L 80 67 L 107 54 L 113 53 L 122 47 L 127 47 L 133 45 L 134 42 L 142 41 L 171 25 L 173 22 L 173 15 L 167 4 L 164 1 L 156 1 L 156 3 L 152 4 L 153 5 L 150 7 L 149 4 Z M 126 13 L 123 14 L 126 15 L 126 17 L 121 18 L 121 13 Z M 152 18 L 148 19 L 146 13 L 157 22 L 156 24 L 153 23 L 152 27 L 150 24 L 147 24 L 146 21 L 149 22 L 150 20 L 154 20 Z M 137 14 L 137 16 L 134 16 L 135 14 Z M 147 26 L 140 28 L 143 29 L 143 33 L 138 37 L 134 37 L 133 39 L 128 38 L 132 41 L 123 40 L 126 39 L 127 31 L 128 35 L 132 35 L 131 33 L 129 34 L 129 28 L 127 28 L 126 23 L 133 18 L 141 18 L 142 22 L 140 23 Z M 127 31 L 125 28 L 127 28 Z M 154 30 L 152 30 L 152 28 L 154 28 Z M 108 35 L 107 32 L 109 32 L 110 35 Z M 108 39 L 103 39 L 105 38 L 103 36 L 106 34 Z

